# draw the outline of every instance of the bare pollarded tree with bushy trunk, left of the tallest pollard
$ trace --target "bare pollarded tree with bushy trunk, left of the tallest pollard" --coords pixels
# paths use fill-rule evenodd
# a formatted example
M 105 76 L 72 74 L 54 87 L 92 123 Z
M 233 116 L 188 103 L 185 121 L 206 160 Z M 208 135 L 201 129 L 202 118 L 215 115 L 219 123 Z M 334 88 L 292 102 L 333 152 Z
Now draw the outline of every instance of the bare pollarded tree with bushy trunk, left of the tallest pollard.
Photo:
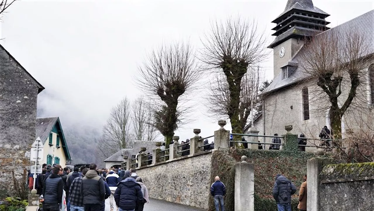
M 180 97 L 192 90 L 200 79 L 194 58 L 189 44 L 171 44 L 153 50 L 139 68 L 137 80 L 140 88 L 162 100 L 156 105 L 154 126 L 165 136 L 167 146 L 181 121 L 181 114 L 186 112 L 178 105 Z

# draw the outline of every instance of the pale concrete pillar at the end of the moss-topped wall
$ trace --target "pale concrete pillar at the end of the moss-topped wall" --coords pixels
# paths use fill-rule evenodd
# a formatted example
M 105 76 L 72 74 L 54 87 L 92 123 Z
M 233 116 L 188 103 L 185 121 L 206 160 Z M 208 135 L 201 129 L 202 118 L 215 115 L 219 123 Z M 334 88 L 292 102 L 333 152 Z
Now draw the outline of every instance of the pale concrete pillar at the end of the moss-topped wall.
M 332 159 L 312 158 L 307 160 L 307 210 L 319 211 L 319 173 Z

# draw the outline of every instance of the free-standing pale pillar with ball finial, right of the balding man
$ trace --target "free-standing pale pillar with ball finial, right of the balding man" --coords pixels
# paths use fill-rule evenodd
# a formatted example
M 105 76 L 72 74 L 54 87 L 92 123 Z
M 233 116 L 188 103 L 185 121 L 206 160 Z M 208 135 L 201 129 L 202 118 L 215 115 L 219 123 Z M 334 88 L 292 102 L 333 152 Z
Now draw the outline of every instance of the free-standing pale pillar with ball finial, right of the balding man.
M 235 164 L 235 211 L 254 211 L 254 164 L 246 159 L 243 155 L 242 162 Z

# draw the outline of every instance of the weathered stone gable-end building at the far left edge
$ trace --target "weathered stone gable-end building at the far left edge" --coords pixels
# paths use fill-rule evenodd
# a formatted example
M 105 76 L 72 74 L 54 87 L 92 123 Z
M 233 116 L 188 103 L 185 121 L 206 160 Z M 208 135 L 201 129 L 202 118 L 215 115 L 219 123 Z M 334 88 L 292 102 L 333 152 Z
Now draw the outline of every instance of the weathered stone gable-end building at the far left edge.
M 38 83 L 0 45 L 0 195 L 20 193 L 36 133 Z

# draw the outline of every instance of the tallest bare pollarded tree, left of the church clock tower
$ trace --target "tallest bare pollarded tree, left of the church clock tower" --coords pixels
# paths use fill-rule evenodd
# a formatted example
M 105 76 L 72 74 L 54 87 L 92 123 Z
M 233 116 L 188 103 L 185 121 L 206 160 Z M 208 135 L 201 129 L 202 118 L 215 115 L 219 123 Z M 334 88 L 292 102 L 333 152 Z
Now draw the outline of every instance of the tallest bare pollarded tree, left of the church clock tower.
M 213 88 L 213 96 L 220 97 L 218 93 L 225 90 L 226 96 L 218 99 L 221 104 L 219 107 L 225 108 L 233 133 L 243 133 L 242 125 L 246 124 L 250 112 L 248 99 L 257 93 L 258 84 L 248 87 L 242 83 L 254 79 L 256 74 L 247 74 L 248 69 L 252 70 L 267 58 L 264 32 L 258 31 L 255 22 L 239 18 L 227 19 L 225 23 L 212 24 L 211 32 L 205 36 L 203 45 L 203 62 L 208 65 L 208 69 L 218 70 L 218 74 L 223 75 L 219 76 L 218 84 Z

